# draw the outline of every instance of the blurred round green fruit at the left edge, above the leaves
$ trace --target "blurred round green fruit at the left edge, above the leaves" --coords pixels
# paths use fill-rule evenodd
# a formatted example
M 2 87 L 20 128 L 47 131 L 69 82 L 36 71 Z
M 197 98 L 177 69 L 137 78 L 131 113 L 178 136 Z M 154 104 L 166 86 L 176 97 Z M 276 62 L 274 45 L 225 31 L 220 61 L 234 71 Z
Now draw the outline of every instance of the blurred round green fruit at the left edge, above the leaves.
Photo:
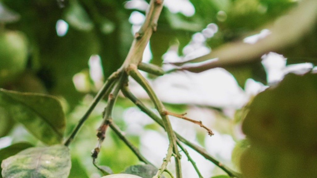
M 0 31 L 0 86 L 16 79 L 25 69 L 27 46 L 22 32 Z

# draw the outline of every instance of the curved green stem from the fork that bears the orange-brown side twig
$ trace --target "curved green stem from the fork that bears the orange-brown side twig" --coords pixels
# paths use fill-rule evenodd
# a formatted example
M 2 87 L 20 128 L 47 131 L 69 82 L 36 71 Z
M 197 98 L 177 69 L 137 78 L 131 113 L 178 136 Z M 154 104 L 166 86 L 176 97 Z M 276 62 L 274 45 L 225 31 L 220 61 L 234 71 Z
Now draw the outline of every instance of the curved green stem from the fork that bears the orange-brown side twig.
M 180 163 L 180 158 L 181 155 L 178 152 L 178 147 L 177 147 L 177 143 L 176 143 L 176 136 L 174 134 L 174 131 L 172 129 L 170 120 L 168 118 L 168 115 L 166 114 L 166 110 L 164 105 L 162 104 L 162 102 L 158 99 L 158 97 L 156 96 L 155 92 L 153 91 L 152 87 L 149 85 L 149 83 L 147 82 L 147 80 L 141 75 L 141 73 L 139 73 L 136 65 L 131 64 L 128 68 L 127 68 L 127 73 L 134 79 L 136 80 L 139 85 L 141 85 L 143 87 L 143 89 L 147 92 L 147 94 L 149 95 L 150 99 L 152 100 L 152 102 L 154 103 L 156 109 L 159 111 L 159 114 L 163 120 L 163 125 L 164 128 L 167 132 L 167 136 L 170 142 L 169 147 L 173 148 L 173 152 L 175 154 L 175 163 L 176 163 L 176 177 L 177 178 L 181 178 L 182 177 L 182 171 L 181 171 L 181 163 Z M 166 156 L 167 158 L 169 158 L 169 155 Z M 169 162 L 169 160 L 168 160 Z

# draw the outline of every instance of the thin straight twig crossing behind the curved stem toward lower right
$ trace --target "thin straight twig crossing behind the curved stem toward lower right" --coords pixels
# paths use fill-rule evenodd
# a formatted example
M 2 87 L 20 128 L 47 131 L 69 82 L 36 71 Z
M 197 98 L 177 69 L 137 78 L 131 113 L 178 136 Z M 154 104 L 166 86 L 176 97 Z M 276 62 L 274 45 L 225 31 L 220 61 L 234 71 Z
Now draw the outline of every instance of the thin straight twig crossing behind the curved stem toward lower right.
M 149 117 L 151 117 L 156 123 L 158 123 L 161 127 L 163 127 L 163 121 L 161 118 L 159 118 L 158 115 L 156 115 L 151 109 L 147 108 L 142 101 L 140 101 L 139 99 L 137 99 L 133 93 L 131 93 L 129 91 L 129 89 L 127 87 L 124 87 L 122 90 L 122 93 L 124 94 L 124 96 L 128 99 L 130 99 L 136 106 L 138 106 L 140 108 L 141 111 L 143 111 L 144 113 L 146 113 Z M 164 128 L 164 127 L 163 127 Z M 183 143 L 185 143 L 186 145 L 188 145 L 189 147 L 191 147 L 192 149 L 194 149 L 195 151 L 197 151 L 199 154 L 201 154 L 202 156 L 204 156 L 206 159 L 208 159 L 209 161 L 213 162 L 216 166 L 218 166 L 219 168 L 221 168 L 224 172 L 226 172 L 230 177 L 236 177 L 236 178 L 242 178 L 242 175 L 240 173 L 237 173 L 233 170 L 231 170 L 230 168 L 226 167 L 225 165 L 223 165 L 221 162 L 219 162 L 217 159 L 215 159 L 213 156 L 211 156 L 209 153 L 207 153 L 206 150 L 204 150 L 204 148 L 191 143 L 190 141 L 188 141 L 187 139 L 185 139 L 184 137 L 182 137 L 181 135 L 179 135 L 177 132 L 174 132 L 176 137 Z M 179 144 L 179 143 L 178 143 Z

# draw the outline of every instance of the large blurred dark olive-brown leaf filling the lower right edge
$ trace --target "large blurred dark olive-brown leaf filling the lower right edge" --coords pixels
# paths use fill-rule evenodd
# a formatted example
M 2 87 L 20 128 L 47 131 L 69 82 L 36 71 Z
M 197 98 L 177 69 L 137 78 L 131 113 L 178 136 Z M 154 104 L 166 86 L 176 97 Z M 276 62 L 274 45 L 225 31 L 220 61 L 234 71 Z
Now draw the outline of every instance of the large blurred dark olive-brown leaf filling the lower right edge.
M 317 74 L 287 74 L 256 95 L 242 130 L 250 148 L 241 156 L 246 178 L 316 175 Z M 295 143 L 295 144 L 294 144 Z

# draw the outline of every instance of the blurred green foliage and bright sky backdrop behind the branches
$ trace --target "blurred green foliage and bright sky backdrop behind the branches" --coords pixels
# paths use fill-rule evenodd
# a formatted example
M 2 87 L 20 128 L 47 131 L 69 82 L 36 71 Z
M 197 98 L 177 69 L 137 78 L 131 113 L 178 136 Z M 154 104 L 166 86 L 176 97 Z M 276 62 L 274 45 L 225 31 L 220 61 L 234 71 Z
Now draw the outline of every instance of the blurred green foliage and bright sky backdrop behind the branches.
M 145 14 L 148 1 L 69 0 L 56 2 L 2 0 L 0 2 L 2 6 L 13 10 L 19 16 L 18 21 L 6 23 L 4 28 L 10 31 L 23 32 L 28 41 L 28 58 L 24 70 L 14 79 L 1 84 L 0 87 L 57 96 L 62 101 L 66 113 L 66 135 L 68 135 L 78 119 L 87 110 L 87 106 L 92 101 L 92 96 L 100 87 L 97 84 L 98 81 L 94 81 L 92 78 L 90 73 L 92 66 L 88 65 L 88 60 L 92 55 L 99 55 L 103 72 L 101 80 L 117 70 L 131 46 L 133 29 L 138 28 L 141 24 L 138 20 L 133 21 L 132 14 L 137 14 L 142 19 L 141 14 Z M 210 50 L 217 51 L 226 44 L 237 43 L 238 46 L 238 41 L 260 32 L 278 17 L 296 7 L 297 3 L 297 1 L 291 0 L 179 0 L 175 2 L 166 0 L 159 18 L 157 32 L 152 35 L 148 57 L 145 56 L 145 60 L 162 66 L 163 62 L 182 62 L 194 59 L 208 54 Z M 182 9 L 182 4 L 188 9 Z M 302 18 L 305 18 L 304 12 Z M 57 35 L 56 23 L 58 20 L 64 20 L 69 25 L 64 36 Z M 301 22 L 294 23 L 301 26 Z M 311 22 L 311 24 L 307 33 L 298 34 L 302 36 L 299 41 L 287 43 L 285 47 L 273 51 L 288 58 L 288 64 L 309 62 L 314 67 L 317 55 L 315 50 L 317 47 L 316 24 L 314 22 Z M 284 26 L 284 28 L 287 29 L 288 26 Z M 232 52 L 230 51 L 231 48 L 224 49 L 226 53 Z M 167 54 L 173 54 L 174 57 L 169 57 L 170 60 L 168 60 Z M 261 56 L 262 54 L 259 54 L 251 62 L 244 62 L 243 60 L 239 62 L 238 60 L 234 66 L 221 66 L 229 71 L 236 80 L 232 80 L 231 74 L 223 69 L 211 69 L 216 72 L 221 70 L 221 75 L 227 77 L 227 80 L 224 81 L 232 85 L 225 87 L 227 89 L 230 87 L 230 91 L 233 91 L 232 96 L 242 98 L 236 103 L 232 98 L 223 103 L 213 100 L 213 98 L 209 102 L 197 99 L 199 97 L 195 96 L 195 92 L 199 91 L 193 93 L 190 90 L 190 86 L 195 85 L 195 82 L 180 80 L 186 82 L 187 85 L 181 85 L 184 83 L 177 82 L 182 77 L 186 78 L 193 75 L 189 72 L 172 72 L 167 74 L 166 77 L 164 76 L 165 78 L 156 78 L 152 75 L 147 77 L 152 81 L 154 88 L 158 90 L 159 96 L 163 98 L 164 94 L 172 92 L 164 90 L 166 86 L 164 82 L 171 86 L 180 85 L 185 87 L 184 91 L 187 87 L 187 92 L 184 92 L 184 95 L 179 94 L 178 98 L 170 100 L 169 96 L 171 95 L 167 95 L 163 99 L 167 108 L 177 113 L 187 111 L 191 118 L 204 121 L 221 137 L 206 138 L 204 130 L 182 121 L 173 121 L 175 129 L 180 133 L 190 133 L 188 137 L 207 149 L 215 146 L 213 144 L 210 146 L 210 142 L 219 139 L 220 141 L 214 144 L 223 144 L 223 147 L 220 146 L 221 149 L 228 147 L 229 151 L 227 153 L 230 153 L 233 144 L 244 137 L 239 130 L 241 125 L 239 114 L 240 112 L 243 114 L 243 110 L 240 109 L 250 97 L 248 91 L 244 90 L 246 89 L 244 87 L 247 79 L 254 79 L 262 82 L 263 85 L 270 84 L 260 60 Z M 176 59 L 180 61 L 176 61 Z M 170 69 L 170 67 L 168 64 L 163 65 L 164 69 Z M 202 78 L 204 73 L 206 72 L 196 74 L 193 78 Z M 78 89 L 78 87 L 76 89 L 76 85 L 74 85 L 73 81 L 75 81 L 74 76 L 76 75 L 81 76 L 82 89 Z M 217 75 L 212 76 L 217 77 Z M 217 83 L 208 77 L 210 75 L 203 78 L 201 83 L 223 86 L 223 82 Z M 205 85 L 200 86 L 204 87 Z M 260 86 L 262 87 L 262 85 Z M 169 89 L 177 90 L 177 88 L 176 86 Z M 138 88 L 134 90 L 137 92 Z M 212 93 L 213 91 L 207 90 L 206 92 Z M 140 98 L 148 101 L 142 92 L 138 93 Z M 208 94 L 206 93 L 206 95 Z M 213 94 L 213 96 L 217 95 L 217 93 Z M 191 99 L 186 100 L 184 98 Z M 192 100 L 192 98 L 196 98 L 196 100 Z M 99 176 L 98 171 L 91 164 L 90 150 L 96 144 L 96 140 L 92 138 L 95 138 L 95 130 L 100 124 L 104 107 L 105 103 L 103 102 L 97 106 L 90 119 L 81 129 L 77 139 L 71 144 L 72 169 L 69 177 Z M 235 111 L 237 111 L 236 114 L 233 114 Z M 119 99 L 114 114 L 115 122 L 122 130 L 126 130 L 126 136 L 140 147 L 142 147 L 141 143 L 144 143 L 142 141 L 142 139 L 145 139 L 144 134 L 152 134 L 152 137 L 156 137 L 155 139 L 158 140 L 164 136 L 163 130 L 153 124 L 144 114 L 141 114 L 129 101 Z M 19 141 L 42 145 L 20 124 L 13 123 L 10 117 L 0 116 L 0 118 L 0 128 L 4 130 L 0 137 L 2 137 L 1 142 L 4 146 Z M 135 130 L 143 131 L 136 132 Z M 156 132 L 152 132 L 152 130 Z M 129 165 L 139 163 L 137 158 L 113 132 L 110 131 L 107 134 L 99 157 L 100 165 L 107 165 L 115 173 L 118 173 Z M 5 140 L 9 141 L 4 143 Z M 227 142 L 222 143 L 223 140 L 227 140 Z M 164 149 L 164 141 L 166 140 L 162 139 L 163 146 L 149 143 L 149 148 L 146 149 L 144 145 L 142 147 L 145 155 L 148 150 L 152 150 L 152 154 L 153 152 L 158 153 L 156 156 L 148 154 L 152 157 L 150 160 L 158 165 L 160 159 L 164 157 L 164 152 L 162 155 L 159 149 L 155 151 L 153 149 L 155 147 Z M 212 151 L 212 149 L 210 150 Z M 228 155 L 223 156 L 217 151 L 214 153 L 218 159 L 231 167 L 235 167 L 230 156 L 228 158 Z M 204 159 L 197 158 L 197 160 L 201 161 L 197 161 L 198 167 L 201 166 L 202 169 L 206 169 L 204 174 L 208 176 L 222 174 L 218 169 L 210 169 L 214 168 L 211 163 L 208 163 L 208 166 L 205 166 L 207 168 L 205 168 L 203 166 L 205 164 Z

